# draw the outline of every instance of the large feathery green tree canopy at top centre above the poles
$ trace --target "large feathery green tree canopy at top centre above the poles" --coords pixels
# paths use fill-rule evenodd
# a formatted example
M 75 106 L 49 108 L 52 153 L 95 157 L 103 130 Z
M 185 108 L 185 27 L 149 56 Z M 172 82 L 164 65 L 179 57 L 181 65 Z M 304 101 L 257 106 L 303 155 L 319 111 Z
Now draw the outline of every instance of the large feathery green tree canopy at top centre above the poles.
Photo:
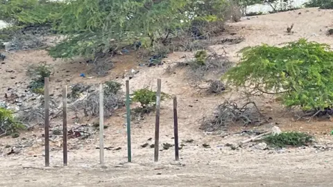
M 136 41 L 141 41 L 143 47 L 151 47 L 163 41 L 166 33 L 178 35 L 197 15 L 208 20 L 223 19 L 227 7 L 225 0 L 70 1 L 62 9 L 57 30 L 75 34 L 70 34 L 49 53 L 53 57 L 94 57 L 96 53 L 107 53 Z

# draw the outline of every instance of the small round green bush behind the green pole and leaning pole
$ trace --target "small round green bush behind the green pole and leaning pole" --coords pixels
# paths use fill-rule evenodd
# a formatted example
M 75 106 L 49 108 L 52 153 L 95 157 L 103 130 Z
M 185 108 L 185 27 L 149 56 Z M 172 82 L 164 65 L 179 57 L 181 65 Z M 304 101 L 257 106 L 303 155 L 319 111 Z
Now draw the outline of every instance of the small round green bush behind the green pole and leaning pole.
M 161 101 L 169 98 L 168 94 L 161 92 Z M 156 91 L 150 89 L 138 89 L 133 93 L 133 101 L 139 102 L 142 108 L 155 107 L 156 105 Z

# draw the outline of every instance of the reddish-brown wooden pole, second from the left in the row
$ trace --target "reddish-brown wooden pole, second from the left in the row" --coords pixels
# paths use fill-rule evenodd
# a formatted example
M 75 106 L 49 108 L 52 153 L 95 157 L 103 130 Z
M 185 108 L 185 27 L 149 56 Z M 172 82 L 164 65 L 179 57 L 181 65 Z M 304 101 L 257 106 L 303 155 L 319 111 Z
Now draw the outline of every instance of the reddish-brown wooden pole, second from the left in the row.
M 67 166 L 67 86 L 62 90 L 62 152 L 64 166 Z

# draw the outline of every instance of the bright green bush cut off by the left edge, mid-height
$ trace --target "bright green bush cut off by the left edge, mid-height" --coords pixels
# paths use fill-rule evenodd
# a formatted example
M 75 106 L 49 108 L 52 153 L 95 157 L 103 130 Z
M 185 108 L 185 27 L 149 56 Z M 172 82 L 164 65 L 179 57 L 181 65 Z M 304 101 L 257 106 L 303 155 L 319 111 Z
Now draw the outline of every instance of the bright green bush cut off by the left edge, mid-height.
M 0 130 L 6 134 L 14 134 L 19 130 L 24 130 L 25 126 L 16 121 L 9 109 L 0 107 Z

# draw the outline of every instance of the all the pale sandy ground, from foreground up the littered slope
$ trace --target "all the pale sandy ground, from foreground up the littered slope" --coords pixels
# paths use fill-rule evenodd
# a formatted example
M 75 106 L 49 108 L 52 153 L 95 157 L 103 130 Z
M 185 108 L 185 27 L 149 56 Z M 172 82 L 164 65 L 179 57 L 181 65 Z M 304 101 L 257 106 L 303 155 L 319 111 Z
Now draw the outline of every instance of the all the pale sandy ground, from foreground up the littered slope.
M 225 48 L 231 60 L 237 61 L 237 51 L 245 46 L 261 43 L 280 45 L 291 42 L 300 37 L 309 38 L 316 42 L 325 42 L 333 45 L 333 39 L 326 35 L 327 27 L 332 27 L 333 10 L 317 10 L 316 8 L 282 12 L 259 17 L 246 17 L 239 23 L 229 24 L 237 30 L 237 34 L 245 37 L 245 41 L 234 45 L 212 46 L 221 53 Z M 288 35 L 287 26 L 295 24 L 294 33 Z M 234 132 L 251 128 L 267 129 L 278 125 L 282 130 L 300 130 L 316 136 L 319 144 L 332 145 L 332 136 L 327 136 L 333 130 L 330 121 L 311 121 L 309 123 L 291 120 L 292 115 L 282 117 L 283 109 L 270 98 L 258 103 L 262 112 L 273 118 L 273 125 L 263 127 L 243 127 L 235 125 L 230 127 L 230 136 L 214 136 L 204 134 L 198 129 L 199 120 L 211 114 L 216 105 L 226 98 L 237 100 L 237 94 L 221 96 L 203 96 L 189 86 L 183 69 L 176 69 L 174 73 L 165 73 L 165 68 L 172 62 L 177 62 L 188 53 L 173 53 L 166 59 L 164 67 L 139 67 L 139 54 L 122 55 L 112 59 L 115 68 L 110 75 L 104 78 L 80 78 L 80 73 L 86 73 L 89 66 L 82 60 L 64 62 L 52 60 L 45 51 L 19 51 L 6 54 L 6 64 L 1 64 L 0 80 L 2 87 L 0 93 L 15 82 L 25 82 L 28 78 L 25 73 L 26 66 L 31 63 L 46 61 L 54 65 L 54 75 L 51 77 L 51 93 L 61 91 L 64 84 L 78 82 L 99 83 L 105 80 L 119 82 L 121 75 L 130 69 L 139 70 L 139 73 L 130 80 L 131 91 L 145 86 L 155 89 L 157 78 L 162 78 L 162 91 L 178 96 L 179 136 L 180 141 L 194 139 L 193 143 L 185 143 L 180 150 L 180 164 L 173 161 L 173 151 L 160 152 L 160 162 L 153 164 L 153 149 L 141 148 L 140 145 L 153 138 L 155 116 L 147 116 L 144 121 L 133 124 L 133 161 L 138 165 L 125 165 L 117 168 L 119 163 L 127 161 L 126 127 L 121 115 L 113 116 L 105 121 L 110 127 L 105 130 L 105 147 L 120 147 L 121 150 L 105 150 L 105 165 L 101 168 L 99 163 L 98 137 L 87 139 L 80 148 L 69 150 L 69 167 L 54 167 L 62 165 L 62 148 L 55 146 L 51 151 L 51 168 L 45 170 L 23 167 L 42 168 L 44 154 L 42 143 L 26 148 L 20 154 L 0 157 L 1 179 L 0 186 L 332 186 L 330 172 L 332 172 L 331 150 L 318 151 L 315 148 L 289 149 L 282 153 L 272 150 L 240 149 L 230 150 L 225 143 L 239 143 L 245 137 L 232 135 Z M 14 70 L 8 73 L 6 70 Z M 68 71 L 68 72 L 65 72 Z M 15 78 L 11 78 L 15 77 Z M 15 80 L 15 82 L 13 81 Z M 65 83 L 68 82 L 68 83 Z M 234 95 L 234 96 L 232 96 Z M 264 107 L 265 105 L 270 107 Z M 124 111 L 119 111 L 119 114 Z M 69 116 L 69 125 L 74 122 Z M 39 136 L 42 130 L 26 132 L 24 137 L 33 134 Z M 173 143 L 173 116 L 172 103 L 167 100 L 162 103 L 160 143 Z M 11 138 L 0 139 L 1 145 L 14 143 Z M 203 148 L 208 143 L 211 148 Z M 172 164 L 171 164 L 172 163 Z M 159 173 L 160 172 L 160 173 Z

